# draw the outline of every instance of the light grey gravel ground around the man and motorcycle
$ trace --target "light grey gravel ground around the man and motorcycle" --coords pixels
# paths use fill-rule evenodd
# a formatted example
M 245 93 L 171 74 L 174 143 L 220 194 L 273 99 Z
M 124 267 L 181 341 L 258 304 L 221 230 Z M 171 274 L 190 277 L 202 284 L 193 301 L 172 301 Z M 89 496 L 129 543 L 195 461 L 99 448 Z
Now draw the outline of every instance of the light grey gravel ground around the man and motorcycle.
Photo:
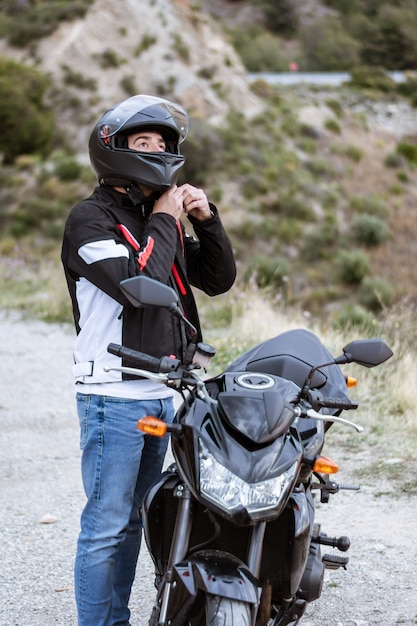
M 72 568 L 83 506 L 69 326 L 0 312 L 0 624 L 75 626 Z M 341 482 L 350 482 L 344 466 Z M 348 472 L 348 470 L 347 470 Z M 326 572 L 305 626 L 417 624 L 415 499 L 376 485 L 320 505 L 329 535 L 349 535 L 347 571 Z M 142 550 L 132 626 L 145 626 L 154 589 Z M 93 626 L 93 625 L 92 625 Z

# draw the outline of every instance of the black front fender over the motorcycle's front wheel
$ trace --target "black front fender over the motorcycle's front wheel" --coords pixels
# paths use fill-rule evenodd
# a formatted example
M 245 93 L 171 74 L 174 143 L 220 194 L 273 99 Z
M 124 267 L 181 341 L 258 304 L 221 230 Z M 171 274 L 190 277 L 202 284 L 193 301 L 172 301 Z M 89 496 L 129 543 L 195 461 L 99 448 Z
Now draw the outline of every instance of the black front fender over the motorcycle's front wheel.
M 171 581 L 167 618 L 173 625 L 180 614 L 188 614 L 201 593 L 252 605 L 259 603 L 258 581 L 242 561 L 225 552 L 197 552 L 189 561 L 174 566 Z

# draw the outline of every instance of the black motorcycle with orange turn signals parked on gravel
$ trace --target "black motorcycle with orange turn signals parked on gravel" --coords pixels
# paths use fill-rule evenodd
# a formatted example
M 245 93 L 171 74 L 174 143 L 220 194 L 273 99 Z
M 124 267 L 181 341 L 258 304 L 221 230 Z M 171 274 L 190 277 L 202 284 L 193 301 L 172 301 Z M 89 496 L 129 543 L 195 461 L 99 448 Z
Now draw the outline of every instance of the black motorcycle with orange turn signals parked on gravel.
M 144 534 L 157 595 L 150 626 L 288 626 L 320 597 L 325 568 L 346 568 L 348 537 L 315 521 L 315 496 L 328 502 L 341 485 L 321 455 L 334 424 L 360 432 L 340 414 L 356 409 L 340 366 L 374 367 L 392 351 L 381 339 L 352 341 L 334 358 L 304 329 L 271 338 L 203 380 L 214 349 L 197 343 L 170 287 L 147 277 L 121 289 L 134 306 L 163 306 L 182 320 L 184 359 L 155 358 L 110 344 L 122 357 L 109 369 L 146 376 L 182 396 L 171 425 L 152 417 L 138 428 L 171 435 L 175 463 L 147 492 Z

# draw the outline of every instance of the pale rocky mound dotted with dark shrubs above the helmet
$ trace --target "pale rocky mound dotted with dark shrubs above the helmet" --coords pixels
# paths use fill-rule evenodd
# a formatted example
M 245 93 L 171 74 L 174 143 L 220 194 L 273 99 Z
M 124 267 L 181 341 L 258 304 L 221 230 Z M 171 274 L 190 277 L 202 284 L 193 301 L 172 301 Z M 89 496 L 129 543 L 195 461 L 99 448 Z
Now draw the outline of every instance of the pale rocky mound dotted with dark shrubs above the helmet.
M 96 0 L 84 18 L 28 48 L 0 40 L 0 54 L 52 77 L 58 119 L 71 128 L 79 151 L 103 108 L 134 93 L 169 94 L 191 115 L 211 121 L 242 101 L 248 115 L 258 112 L 237 53 L 216 22 L 192 6 L 188 0 Z

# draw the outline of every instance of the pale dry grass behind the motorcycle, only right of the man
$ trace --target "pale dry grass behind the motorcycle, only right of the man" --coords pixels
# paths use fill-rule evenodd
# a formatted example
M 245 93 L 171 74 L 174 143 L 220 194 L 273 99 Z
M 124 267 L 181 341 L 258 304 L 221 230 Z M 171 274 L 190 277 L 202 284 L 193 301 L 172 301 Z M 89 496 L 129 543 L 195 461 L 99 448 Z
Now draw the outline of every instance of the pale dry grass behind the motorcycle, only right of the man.
M 360 329 L 344 331 L 323 326 L 301 311 L 285 310 L 271 303 L 261 292 L 224 296 L 232 300 L 232 322 L 225 328 L 211 329 L 206 340 L 218 349 L 217 373 L 229 357 L 269 337 L 294 328 L 316 333 L 335 356 L 353 339 L 365 335 Z M 204 306 L 204 305 L 203 305 Z M 205 311 L 207 315 L 207 311 Z M 210 318 L 212 312 L 208 312 Z M 364 426 L 364 433 L 335 425 L 326 446 L 357 468 L 362 484 L 378 481 L 380 492 L 416 493 L 417 480 L 411 468 L 417 467 L 417 315 L 408 302 L 398 305 L 381 321 L 378 336 L 384 338 L 394 356 L 382 365 L 367 369 L 356 364 L 344 366 L 344 373 L 358 380 L 350 396 L 359 409 L 343 417 Z M 216 360 L 215 360 L 216 362 Z

